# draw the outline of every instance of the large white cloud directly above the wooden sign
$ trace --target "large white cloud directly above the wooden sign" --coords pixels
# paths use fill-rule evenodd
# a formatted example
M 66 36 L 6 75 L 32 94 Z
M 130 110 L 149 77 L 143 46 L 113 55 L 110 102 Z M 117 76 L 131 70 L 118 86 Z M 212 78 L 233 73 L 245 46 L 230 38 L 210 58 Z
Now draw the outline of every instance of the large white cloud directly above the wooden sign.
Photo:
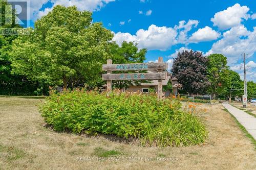
M 176 36 L 177 31 L 173 28 L 151 25 L 147 30 L 138 30 L 136 35 L 118 32 L 114 35 L 113 41 L 117 41 L 119 45 L 123 41 L 135 41 L 140 48 L 165 51 L 177 43 Z

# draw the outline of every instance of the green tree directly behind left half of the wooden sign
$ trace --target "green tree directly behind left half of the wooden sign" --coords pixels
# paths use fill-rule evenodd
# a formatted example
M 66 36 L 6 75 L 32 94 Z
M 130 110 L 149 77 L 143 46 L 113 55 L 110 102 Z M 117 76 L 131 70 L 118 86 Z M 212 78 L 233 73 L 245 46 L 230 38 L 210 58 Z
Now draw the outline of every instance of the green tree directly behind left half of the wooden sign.
M 123 41 L 121 46 L 118 46 L 116 42 L 113 42 L 111 46 L 111 54 L 113 64 L 127 64 L 127 63 L 142 63 L 146 58 L 146 49 L 138 49 L 138 44 L 133 42 Z M 123 73 L 129 73 L 132 71 L 122 71 Z M 118 72 L 120 73 L 120 71 Z M 113 87 L 121 90 L 124 87 L 137 84 L 145 81 L 132 81 L 132 80 L 114 80 Z

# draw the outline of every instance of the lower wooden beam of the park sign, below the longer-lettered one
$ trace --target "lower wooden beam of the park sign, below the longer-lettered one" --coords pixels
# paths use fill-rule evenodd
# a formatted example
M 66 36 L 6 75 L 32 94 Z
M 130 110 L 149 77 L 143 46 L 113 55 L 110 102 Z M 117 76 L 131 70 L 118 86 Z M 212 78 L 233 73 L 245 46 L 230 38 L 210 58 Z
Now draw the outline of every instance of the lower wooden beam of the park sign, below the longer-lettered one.
M 104 74 L 103 80 L 164 80 L 167 72 L 161 73 L 138 73 L 138 74 Z

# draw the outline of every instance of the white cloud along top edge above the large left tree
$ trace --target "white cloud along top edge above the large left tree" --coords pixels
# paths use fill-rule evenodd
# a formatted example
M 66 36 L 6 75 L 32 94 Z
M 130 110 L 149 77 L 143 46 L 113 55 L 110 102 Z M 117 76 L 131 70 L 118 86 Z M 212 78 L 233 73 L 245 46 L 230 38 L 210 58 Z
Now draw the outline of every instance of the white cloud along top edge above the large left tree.
M 64 5 L 66 7 L 76 6 L 80 11 L 98 11 L 106 4 L 114 2 L 115 0 L 33 0 L 30 1 L 30 11 L 33 19 L 36 20 L 38 17 L 46 15 L 52 8 L 46 8 L 43 11 L 39 11 L 42 5 L 47 2 L 53 3 L 53 7 L 56 5 Z

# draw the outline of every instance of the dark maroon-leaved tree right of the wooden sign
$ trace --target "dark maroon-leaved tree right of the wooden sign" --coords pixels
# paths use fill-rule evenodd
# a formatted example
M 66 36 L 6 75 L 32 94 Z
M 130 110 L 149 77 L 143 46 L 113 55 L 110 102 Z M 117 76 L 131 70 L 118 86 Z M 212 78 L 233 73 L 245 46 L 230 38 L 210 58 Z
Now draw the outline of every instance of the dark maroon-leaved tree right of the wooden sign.
M 179 53 L 174 60 L 173 75 L 189 94 L 205 94 L 207 80 L 207 58 L 193 50 Z

